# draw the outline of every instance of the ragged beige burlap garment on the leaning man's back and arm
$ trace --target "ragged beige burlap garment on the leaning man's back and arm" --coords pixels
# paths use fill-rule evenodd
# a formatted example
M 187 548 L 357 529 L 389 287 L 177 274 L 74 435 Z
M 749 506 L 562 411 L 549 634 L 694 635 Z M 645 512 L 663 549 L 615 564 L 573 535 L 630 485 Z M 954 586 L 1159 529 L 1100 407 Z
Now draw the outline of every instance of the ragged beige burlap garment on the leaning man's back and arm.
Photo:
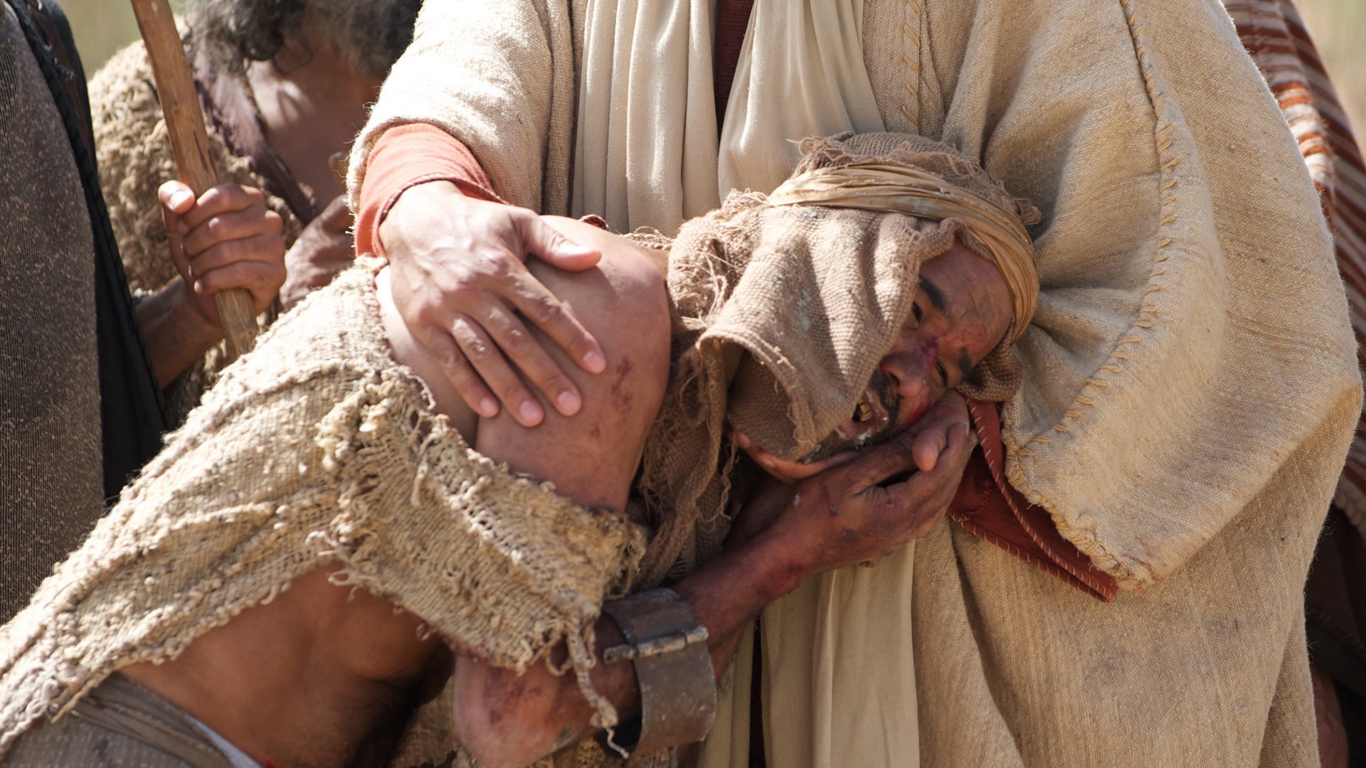
M 559 642 L 587 683 L 593 622 L 634 574 L 641 529 L 473 451 L 393 362 L 378 262 L 310 297 L 229 366 L 85 545 L 0 629 L 0 756 L 111 672 L 179 655 L 295 577 L 421 618 L 525 670 Z

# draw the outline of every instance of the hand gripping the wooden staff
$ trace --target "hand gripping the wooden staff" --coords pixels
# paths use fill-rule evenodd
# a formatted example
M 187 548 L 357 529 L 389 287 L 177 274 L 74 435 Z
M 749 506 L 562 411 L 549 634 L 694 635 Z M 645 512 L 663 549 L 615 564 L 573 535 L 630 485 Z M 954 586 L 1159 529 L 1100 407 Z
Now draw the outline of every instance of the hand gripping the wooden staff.
M 275 301 L 284 284 L 283 221 L 265 206 L 261 190 L 220 184 L 195 200 L 189 186 L 167 182 L 157 198 L 171 261 L 206 323 L 219 327 L 213 294 L 225 288 L 250 291 L 255 312 Z

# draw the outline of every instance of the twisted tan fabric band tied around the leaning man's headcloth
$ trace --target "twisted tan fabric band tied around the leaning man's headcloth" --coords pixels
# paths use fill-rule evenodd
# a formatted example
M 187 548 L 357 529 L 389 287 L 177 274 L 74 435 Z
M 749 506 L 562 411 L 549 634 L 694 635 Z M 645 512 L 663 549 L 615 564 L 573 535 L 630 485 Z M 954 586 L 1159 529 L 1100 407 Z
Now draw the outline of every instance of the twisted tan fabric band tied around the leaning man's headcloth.
M 1014 344 L 1034 317 L 1038 305 L 1038 271 L 1034 243 L 1020 220 L 994 202 L 949 184 L 944 179 L 904 165 L 854 164 L 816 168 L 792 176 L 768 197 L 770 205 L 829 205 L 907 213 L 943 221 L 960 219 L 1005 279 L 1015 323 Z M 973 243 L 970 243 L 973 245 Z

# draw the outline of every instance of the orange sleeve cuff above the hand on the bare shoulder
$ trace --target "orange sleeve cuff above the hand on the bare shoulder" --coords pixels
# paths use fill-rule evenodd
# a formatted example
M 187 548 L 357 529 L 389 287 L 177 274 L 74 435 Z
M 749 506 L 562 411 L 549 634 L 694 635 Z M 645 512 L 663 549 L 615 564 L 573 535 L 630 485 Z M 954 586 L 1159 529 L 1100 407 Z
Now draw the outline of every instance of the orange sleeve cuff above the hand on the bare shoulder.
M 451 182 L 462 193 L 503 202 L 470 148 L 428 123 L 384 131 L 365 164 L 361 210 L 355 217 L 355 251 L 384 256 L 380 223 L 404 191 L 428 182 Z

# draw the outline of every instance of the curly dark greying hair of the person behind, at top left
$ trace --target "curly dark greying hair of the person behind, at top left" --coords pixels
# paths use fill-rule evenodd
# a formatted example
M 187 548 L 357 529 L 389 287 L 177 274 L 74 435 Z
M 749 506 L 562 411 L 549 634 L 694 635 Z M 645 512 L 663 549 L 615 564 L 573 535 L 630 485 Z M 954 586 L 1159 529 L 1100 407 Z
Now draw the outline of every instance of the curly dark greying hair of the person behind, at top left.
M 413 41 L 422 0 L 186 0 L 195 45 L 240 72 L 247 61 L 277 61 L 305 16 L 367 77 L 382 78 Z M 307 49 L 299 53 L 306 59 Z

